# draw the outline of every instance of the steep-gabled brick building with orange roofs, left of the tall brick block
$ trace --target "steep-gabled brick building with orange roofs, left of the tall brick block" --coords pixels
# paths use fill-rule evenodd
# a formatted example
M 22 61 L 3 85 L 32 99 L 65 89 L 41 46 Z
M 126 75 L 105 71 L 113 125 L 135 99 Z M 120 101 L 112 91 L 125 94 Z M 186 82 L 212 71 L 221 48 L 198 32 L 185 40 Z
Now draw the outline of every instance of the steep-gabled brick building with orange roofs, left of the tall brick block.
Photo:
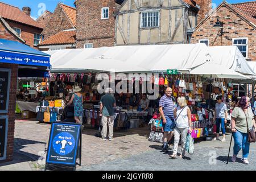
M 43 18 L 38 19 L 41 21 Z M 47 21 L 42 32 L 43 42 L 39 44 L 41 51 L 76 48 L 76 9 L 58 3 L 53 14 L 44 18 Z

